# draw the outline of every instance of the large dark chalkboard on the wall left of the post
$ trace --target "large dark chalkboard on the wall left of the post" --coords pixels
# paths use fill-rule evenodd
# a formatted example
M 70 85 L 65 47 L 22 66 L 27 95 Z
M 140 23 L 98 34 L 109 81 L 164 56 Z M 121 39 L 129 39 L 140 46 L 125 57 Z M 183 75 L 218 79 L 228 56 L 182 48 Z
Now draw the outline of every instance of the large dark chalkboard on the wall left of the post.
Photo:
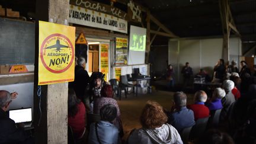
M 34 23 L 0 18 L 0 31 L 0 65 L 34 64 Z

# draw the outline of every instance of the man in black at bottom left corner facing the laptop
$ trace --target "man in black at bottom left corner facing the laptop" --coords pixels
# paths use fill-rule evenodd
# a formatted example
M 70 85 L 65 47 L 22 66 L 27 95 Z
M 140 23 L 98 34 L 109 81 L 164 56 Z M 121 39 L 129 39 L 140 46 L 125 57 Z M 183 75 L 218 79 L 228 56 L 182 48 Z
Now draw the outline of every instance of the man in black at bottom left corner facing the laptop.
M 15 122 L 9 119 L 7 110 L 11 101 L 17 97 L 18 93 L 9 93 L 0 90 L 0 143 L 33 143 L 32 139 L 25 133 L 22 124 L 15 126 Z

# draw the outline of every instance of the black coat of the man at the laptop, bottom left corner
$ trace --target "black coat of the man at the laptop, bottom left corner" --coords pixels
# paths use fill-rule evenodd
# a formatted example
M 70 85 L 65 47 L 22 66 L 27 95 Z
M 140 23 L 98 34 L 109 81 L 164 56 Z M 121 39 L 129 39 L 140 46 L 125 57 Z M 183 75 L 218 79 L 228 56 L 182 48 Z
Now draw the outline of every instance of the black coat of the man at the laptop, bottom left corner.
M 0 143 L 23 143 L 27 139 L 23 128 L 17 128 L 7 113 L 0 108 Z

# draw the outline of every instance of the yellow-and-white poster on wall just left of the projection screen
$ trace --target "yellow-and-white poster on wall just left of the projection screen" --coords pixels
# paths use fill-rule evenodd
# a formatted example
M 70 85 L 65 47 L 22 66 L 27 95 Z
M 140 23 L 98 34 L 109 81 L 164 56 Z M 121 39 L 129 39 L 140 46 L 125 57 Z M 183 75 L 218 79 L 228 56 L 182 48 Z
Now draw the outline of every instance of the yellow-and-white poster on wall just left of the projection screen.
M 116 38 L 116 66 L 127 65 L 128 40 L 126 38 Z

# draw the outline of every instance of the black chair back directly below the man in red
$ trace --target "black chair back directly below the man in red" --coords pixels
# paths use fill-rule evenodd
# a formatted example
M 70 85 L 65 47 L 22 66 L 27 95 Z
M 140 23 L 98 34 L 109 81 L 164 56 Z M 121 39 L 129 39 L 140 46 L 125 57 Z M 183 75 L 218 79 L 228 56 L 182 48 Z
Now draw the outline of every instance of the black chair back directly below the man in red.
M 196 120 L 196 124 L 191 129 L 190 139 L 197 139 L 204 133 L 208 120 L 209 117 Z

